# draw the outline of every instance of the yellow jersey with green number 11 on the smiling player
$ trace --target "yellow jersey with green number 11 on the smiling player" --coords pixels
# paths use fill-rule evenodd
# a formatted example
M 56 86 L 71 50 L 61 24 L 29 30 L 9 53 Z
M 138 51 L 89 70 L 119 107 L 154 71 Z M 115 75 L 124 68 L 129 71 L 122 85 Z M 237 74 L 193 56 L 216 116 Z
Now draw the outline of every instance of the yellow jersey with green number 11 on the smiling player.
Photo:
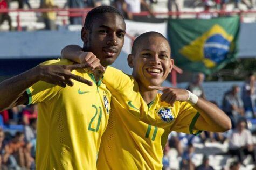
M 112 93 L 112 110 L 102 136 L 98 169 L 162 169 L 163 148 L 171 131 L 199 133 L 199 117 L 188 102 L 174 106 L 144 102 L 135 79 L 108 67 L 103 82 Z

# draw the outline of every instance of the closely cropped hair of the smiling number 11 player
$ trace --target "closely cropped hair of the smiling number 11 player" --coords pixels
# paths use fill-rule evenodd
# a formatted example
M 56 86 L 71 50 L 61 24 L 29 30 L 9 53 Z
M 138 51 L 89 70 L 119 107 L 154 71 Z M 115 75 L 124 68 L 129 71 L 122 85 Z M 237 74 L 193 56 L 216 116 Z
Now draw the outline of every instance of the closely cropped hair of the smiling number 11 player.
M 138 36 L 134 40 L 133 46 L 132 46 L 132 54 L 133 55 L 135 55 L 137 46 L 139 46 L 139 44 L 142 44 L 142 41 L 144 40 L 144 38 L 150 37 L 150 36 L 161 37 L 161 38 L 165 39 L 169 44 L 169 41 L 167 40 L 167 38 L 165 38 L 161 33 L 155 32 L 155 31 L 145 32 L 145 33 L 141 34 L 140 36 Z M 170 46 L 170 44 L 169 44 L 169 46 Z

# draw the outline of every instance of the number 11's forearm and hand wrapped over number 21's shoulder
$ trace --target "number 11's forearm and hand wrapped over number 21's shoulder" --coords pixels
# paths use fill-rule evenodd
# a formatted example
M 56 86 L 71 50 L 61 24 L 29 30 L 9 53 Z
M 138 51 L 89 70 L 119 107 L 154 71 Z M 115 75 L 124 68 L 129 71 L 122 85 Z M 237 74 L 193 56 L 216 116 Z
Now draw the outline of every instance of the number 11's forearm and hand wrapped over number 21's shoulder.
M 92 52 L 84 52 L 78 45 L 68 45 L 61 50 L 61 57 L 77 63 L 87 63 L 91 68 L 87 72 L 93 73 L 95 70 L 105 72 L 105 67 L 100 64 L 100 60 Z

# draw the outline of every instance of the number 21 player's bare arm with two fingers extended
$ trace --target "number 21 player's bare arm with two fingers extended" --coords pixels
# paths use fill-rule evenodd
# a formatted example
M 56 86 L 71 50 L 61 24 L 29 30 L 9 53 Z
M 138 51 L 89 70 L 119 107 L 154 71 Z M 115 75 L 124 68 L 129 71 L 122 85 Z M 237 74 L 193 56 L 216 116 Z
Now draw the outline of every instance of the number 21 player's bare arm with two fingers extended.
M 92 82 L 71 73 L 74 69 L 90 67 L 78 65 L 39 65 L 0 83 L 0 111 L 25 104 L 28 101 L 26 89 L 38 81 L 56 84 L 61 87 L 73 86 L 71 79 L 92 86 Z

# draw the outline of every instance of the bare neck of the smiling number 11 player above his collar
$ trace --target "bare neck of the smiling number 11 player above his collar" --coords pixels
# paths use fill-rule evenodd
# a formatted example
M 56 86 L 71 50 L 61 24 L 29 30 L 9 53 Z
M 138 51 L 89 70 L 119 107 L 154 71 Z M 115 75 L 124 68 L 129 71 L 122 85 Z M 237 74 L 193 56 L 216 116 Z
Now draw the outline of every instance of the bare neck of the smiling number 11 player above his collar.
M 156 98 L 157 90 L 148 89 L 148 87 L 144 87 L 141 82 L 139 82 L 139 81 L 137 81 L 137 82 L 139 84 L 139 91 L 140 91 L 140 94 L 141 94 L 143 100 L 147 104 L 152 102 Z

